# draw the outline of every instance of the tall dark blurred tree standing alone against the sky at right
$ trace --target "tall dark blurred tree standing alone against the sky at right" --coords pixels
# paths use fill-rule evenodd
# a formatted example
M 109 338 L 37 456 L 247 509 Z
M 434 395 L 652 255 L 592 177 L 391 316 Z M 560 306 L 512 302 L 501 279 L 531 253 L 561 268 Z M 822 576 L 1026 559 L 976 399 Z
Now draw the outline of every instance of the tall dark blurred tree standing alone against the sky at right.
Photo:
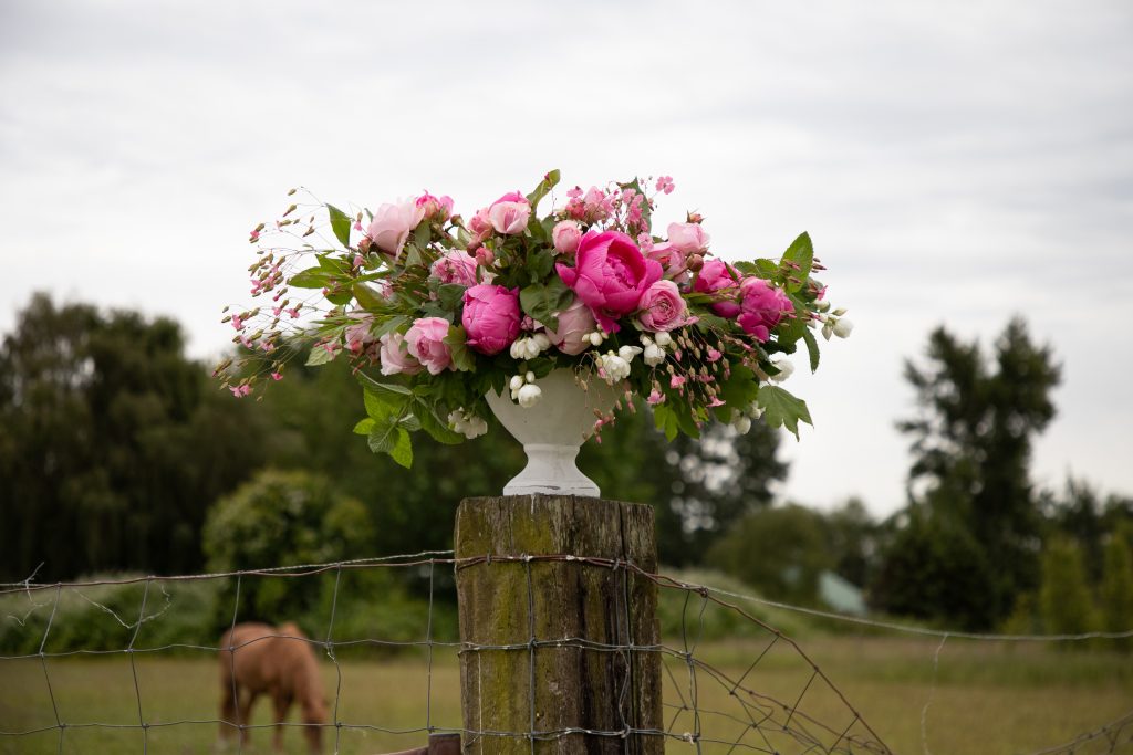
M 937 328 L 928 359 L 908 362 L 905 378 L 920 406 L 917 418 L 898 423 L 913 437 L 910 497 L 928 509 L 922 521 L 969 533 L 987 559 L 993 599 L 977 625 L 991 626 L 1011 611 L 1016 594 L 1039 581 L 1042 522 L 1029 464 L 1032 438 L 1055 414 L 1050 392 L 1059 368 L 1049 348 L 1034 345 L 1024 323 L 1013 319 L 990 360 L 977 342 L 963 343 Z M 897 557 L 892 548 L 889 555 Z M 915 560 L 915 554 L 900 558 Z M 900 572 L 888 572 L 886 594 L 908 593 L 893 583 Z M 948 606 L 939 610 L 953 612 Z

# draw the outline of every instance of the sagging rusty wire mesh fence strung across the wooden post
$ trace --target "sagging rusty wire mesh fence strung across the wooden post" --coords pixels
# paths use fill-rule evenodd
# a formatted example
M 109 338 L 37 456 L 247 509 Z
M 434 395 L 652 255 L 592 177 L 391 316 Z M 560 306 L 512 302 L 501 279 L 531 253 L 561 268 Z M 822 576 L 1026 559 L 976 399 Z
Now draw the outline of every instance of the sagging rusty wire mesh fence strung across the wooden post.
M 573 564 L 579 569 L 604 569 L 608 572 L 611 580 L 611 591 L 615 606 L 615 612 L 611 617 L 612 641 L 605 642 L 581 636 L 539 636 L 538 627 L 540 618 L 537 615 L 537 589 L 533 568 L 539 564 Z M 523 569 L 523 585 L 526 587 L 526 627 L 527 638 L 516 642 L 501 643 L 470 643 L 455 640 L 444 640 L 436 636 L 436 623 L 434 614 L 437 609 L 437 567 L 451 569 L 453 573 L 474 566 L 489 566 L 494 568 L 505 568 L 508 565 L 518 565 Z M 378 569 L 403 569 L 407 574 L 416 574 L 420 578 L 427 577 L 427 614 L 424 626 L 424 637 L 420 635 L 411 638 L 394 638 L 382 636 L 355 637 L 347 633 L 342 636 L 337 632 L 337 620 L 344 609 L 340 606 L 341 591 L 343 589 L 343 575 L 355 570 L 378 570 Z M 330 594 L 330 606 L 326 617 L 325 634 L 320 640 L 310 640 L 305 636 L 296 636 L 290 633 L 272 630 L 258 635 L 252 640 L 237 641 L 236 630 L 240 626 L 241 601 L 246 599 L 249 580 L 255 577 L 271 578 L 303 578 L 318 577 L 333 573 L 333 587 Z M 543 572 L 540 570 L 540 575 Z M 752 595 L 743 595 L 734 592 L 726 592 L 691 584 L 662 574 L 647 572 L 631 561 L 621 559 L 588 558 L 573 555 L 555 556 L 491 556 L 477 558 L 454 558 L 452 551 L 421 551 L 404 556 L 391 556 L 383 558 L 363 558 L 346 561 L 334 561 L 329 564 L 303 564 L 297 566 L 280 566 L 262 569 L 242 569 L 212 574 L 178 575 L 178 576 L 130 576 L 121 578 L 100 578 L 79 581 L 71 583 L 36 583 L 34 574 L 27 580 L 17 583 L 0 584 L 0 599 L 5 595 L 24 595 L 31 602 L 31 609 L 23 616 L 11 616 L 16 625 L 31 629 L 32 617 L 41 609 L 50 606 L 46 616 L 43 634 L 39 641 L 37 652 L 11 653 L 0 655 L 0 663 L 18 661 L 39 661 L 43 672 L 43 680 L 46 687 L 46 696 L 50 701 L 50 719 L 53 724 L 44 720 L 42 724 L 20 724 L 18 721 L 9 721 L 0 717 L 0 741 L 3 739 L 28 738 L 35 735 L 58 732 L 56 752 L 65 752 L 67 744 L 67 732 L 74 730 L 103 729 L 112 731 L 131 731 L 140 733 L 140 752 L 147 754 L 151 747 L 151 731 L 156 729 L 170 729 L 176 727 L 213 726 L 219 729 L 229 729 L 235 732 L 237 739 L 237 752 L 245 750 L 247 735 L 255 730 L 273 730 L 275 732 L 287 729 L 306 730 L 317 728 L 322 731 L 333 729 L 334 752 L 338 753 L 343 746 L 343 732 L 352 731 L 360 733 L 383 733 L 395 736 L 429 735 L 434 732 L 457 732 L 465 737 L 466 746 L 477 743 L 487 743 L 499 739 L 518 739 L 526 743 L 526 749 L 531 754 L 540 752 L 539 744 L 548 741 L 560 741 L 571 737 L 594 737 L 606 739 L 620 739 L 623 744 L 621 752 L 637 752 L 630 749 L 630 741 L 633 739 L 649 740 L 661 739 L 664 743 L 684 744 L 691 746 L 697 755 L 702 755 L 705 748 L 710 753 L 733 753 L 752 752 L 768 753 L 775 755 L 787 755 L 789 753 L 877 753 L 888 754 L 892 750 L 883 741 L 877 731 L 870 727 L 862 713 L 854 707 L 843 692 L 834 684 L 826 672 L 802 650 L 802 647 L 791 637 L 786 636 L 777 628 L 746 611 L 736 602 L 730 602 L 726 598 L 736 601 L 748 601 L 760 604 L 781 608 L 785 610 L 802 611 L 843 621 L 872 625 L 897 632 L 932 635 L 940 637 L 940 645 L 934 655 L 934 688 L 936 680 L 936 667 L 939 653 L 945 640 L 948 637 L 960 637 L 966 640 L 995 640 L 1015 642 L 1073 642 L 1093 640 L 1098 637 L 1121 638 L 1133 636 L 1133 629 L 1122 633 L 1088 633 L 1081 635 L 987 635 L 973 633 L 952 633 L 909 627 L 906 625 L 872 621 L 860 617 L 849 617 L 826 611 L 806 609 L 775 601 L 767 601 Z M 542 577 L 540 577 L 542 578 Z M 167 585 L 194 582 L 194 581 L 231 581 L 233 586 L 233 601 L 231 619 L 228 621 L 227 642 L 211 644 L 208 642 L 167 642 L 153 645 L 139 643 L 143 627 L 148 623 L 165 616 L 172 610 L 174 595 L 167 591 Z M 650 584 L 658 591 L 672 591 L 678 594 L 683 593 L 681 601 L 680 633 L 675 645 L 667 645 L 664 638 L 659 643 L 639 642 L 634 623 L 634 585 Z M 127 624 L 110 607 L 94 600 L 84 590 L 104 586 L 128 586 L 140 585 L 142 595 L 138 607 L 137 620 Z M 161 591 L 164 604 L 147 614 L 154 587 Z M 51 599 L 36 600 L 36 595 L 52 591 Z M 49 651 L 50 637 L 53 628 L 59 621 L 60 603 L 65 594 L 74 593 L 82 600 L 93 603 L 97 608 L 109 612 L 118 624 L 129 630 L 129 641 L 125 649 L 113 650 L 104 647 L 63 647 Z M 722 670 L 707 662 L 705 658 L 698 655 L 701 641 L 705 637 L 706 616 L 709 608 L 719 609 L 738 617 L 743 623 L 758 628 L 766 636 L 766 643 L 758 645 L 753 651 L 755 655 L 750 662 L 738 663 L 732 671 Z M 335 635 L 342 638 L 335 638 Z M 334 671 L 334 697 L 331 705 L 331 720 L 323 723 L 282 722 L 282 723 L 254 723 L 249 717 L 250 701 L 241 700 L 241 690 L 237 683 L 236 653 L 254 643 L 266 642 L 269 640 L 291 640 L 308 643 L 312 650 L 322 650 L 323 654 L 333 666 Z M 377 721 L 353 721 L 347 720 L 342 707 L 342 695 L 344 689 L 344 675 L 340 651 L 357 647 L 376 649 L 402 649 L 420 650 L 424 654 L 425 669 L 425 710 L 424 721 L 419 726 L 395 726 L 394 722 Z M 545 650 L 570 649 L 585 658 L 586 653 L 598 654 L 608 659 L 604 662 L 613 663 L 619 672 L 619 686 L 616 688 L 616 712 L 615 723 L 610 729 L 586 729 L 579 727 L 560 727 L 540 729 L 539 711 L 536 690 L 539 685 L 539 659 Z M 211 653 L 216 654 L 222 662 L 228 664 L 231 676 L 231 702 L 222 701 L 221 714 L 211 717 L 184 717 L 174 720 L 165 720 L 155 715 L 155 711 L 146 713 L 146 697 L 143 694 L 143 683 L 139 678 L 138 659 L 151 658 L 160 653 Z M 527 666 L 527 720 L 526 730 L 503 731 L 489 728 L 467 728 L 453 721 L 441 720 L 434 711 L 434 695 L 436 690 L 436 679 L 434 666 L 438 658 L 460 659 L 469 654 L 500 652 L 500 653 L 526 653 Z M 227 653 L 227 658 L 224 654 Z M 764 668 L 773 654 L 784 653 L 792 659 L 792 662 L 802 666 L 800 684 L 793 692 L 782 698 L 770 694 L 766 688 L 761 688 L 760 669 Z M 68 721 L 60 709 L 58 678 L 53 679 L 51 664 L 57 659 L 71 657 L 102 657 L 102 655 L 126 654 L 129 659 L 129 668 L 133 679 L 131 701 L 136 707 L 137 723 L 111 722 L 111 721 Z M 665 698 L 661 702 L 661 719 L 656 727 L 647 726 L 647 722 L 637 720 L 637 709 L 631 704 L 634 687 L 642 684 L 646 677 L 640 676 L 645 669 L 645 659 L 656 657 L 659 668 L 658 681 L 664 688 Z M 2 666 L 0 666 L 2 669 Z M 682 672 L 683 670 L 683 672 Z M 646 675 L 648 676 L 648 675 Z M 683 676 L 683 681 L 679 679 Z M 716 697 L 713 697 L 715 694 Z M 833 701 L 833 709 L 841 714 L 832 715 L 830 705 L 819 714 L 811 706 L 812 698 Z M 246 696 L 245 696 L 246 697 Z M 705 701 L 724 700 L 726 705 L 713 703 L 708 706 Z M 931 703 L 931 695 L 922 711 L 922 730 L 927 728 L 928 706 Z M 628 714 L 633 711 L 632 717 Z M 448 723 L 449 726 L 443 726 Z M 15 724 L 15 726 L 14 726 Z M 922 735 L 926 755 L 929 754 L 927 745 L 927 731 Z M 1079 753 L 1083 747 L 1090 746 L 1094 749 L 1090 752 L 1117 753 L 1121 748 L 1133 745 L 1133 711 L 1116 719 L 1115 721 L 1099 727 L 1096 730 L 1083 732 L 1073 740 L 1036 752 L 1033 755 L 1058 755 L 1062 753 Z M 1102 749 L 1097 749 L 1097 748 Z M 488 748 L 491 749 L 491 748 Z M 480 752 L 477 749 L 476 752 Z M 603 750 L 606 752 L 606 750 Z

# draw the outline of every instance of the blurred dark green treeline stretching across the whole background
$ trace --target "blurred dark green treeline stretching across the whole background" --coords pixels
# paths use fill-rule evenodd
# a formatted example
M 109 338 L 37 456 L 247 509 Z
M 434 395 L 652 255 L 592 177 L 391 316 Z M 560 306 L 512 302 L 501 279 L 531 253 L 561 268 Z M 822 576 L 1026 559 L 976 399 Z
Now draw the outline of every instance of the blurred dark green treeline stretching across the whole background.
M 1055 415 L 1050 350 L 1019 320 L 988 352 L 939 328 L 906 378 L 919 407 L 898 426 L 912 440 L 909 503 L 886 521 L 858 499 L 775 505 L 787 469 L 759 422 L 667 444 L 642 410 L 587 444 L 580 466 L 604 496 L 655 506 L 664 564 L 726 572 L 772 600 L 823 607 L 824 575 L 837 575 L 875 611 L 948 628 L 1133 626 L 1133 499 L 1030 480 L 1032 443 Z M 448 549 L 459 500 L 499 494 L 522 464 L 493 423 L 460 446 L 419 434 L 407 471 L 351 432 L 363 414 L 346 364 L 292 363 L 262 400 L 237 400 L 185 355 L 176 323 L 37 295 L 0 346 L 0 581 Z M 390 636 L 416 636 L 425 574 L 344 575 L 337 623 L 378 595 Z M 325 582 L 245 585 L 241 619 L 304 616 L 314 630 Z M 196 615 L 223 624 L 232 587 L 201 587 L 194 600 L 212 608 Z M 446 610 L 440 634 L 453 629 Z

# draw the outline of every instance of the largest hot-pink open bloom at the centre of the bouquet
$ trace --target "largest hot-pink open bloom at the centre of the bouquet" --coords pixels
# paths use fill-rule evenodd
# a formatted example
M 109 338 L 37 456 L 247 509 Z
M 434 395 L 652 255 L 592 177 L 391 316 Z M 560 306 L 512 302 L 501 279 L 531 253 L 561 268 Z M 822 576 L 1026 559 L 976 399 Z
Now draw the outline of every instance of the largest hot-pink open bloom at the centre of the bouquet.
M 574 267 L 559 263 L 555 269 L 607 333 L 621 329 L 617 318 L 634 311 L 662 274 L 656 260 L 646 259 L 633 239 L 617 231 L 588 231 L 579 241 Z

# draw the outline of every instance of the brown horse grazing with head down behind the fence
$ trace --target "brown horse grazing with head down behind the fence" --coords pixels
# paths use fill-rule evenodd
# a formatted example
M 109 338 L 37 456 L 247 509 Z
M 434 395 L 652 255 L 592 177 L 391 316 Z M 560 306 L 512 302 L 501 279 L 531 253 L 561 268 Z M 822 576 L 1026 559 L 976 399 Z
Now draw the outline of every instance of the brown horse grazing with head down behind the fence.
M 318 674 L 318 661 L 310 642 L 295 624 L 272 627 L 266 624 L 238 624 L 220 640 L 220 724 L 221 739 L 235 733 L 232 724 L 252 721 L 252 704 L 262 694 L 275 704 L 275 749 L 283 749 L 283 727 L 292 702 L 303 707 L 303 722 L 326 722 L 326 701 Z M 248 729 L 240 729 L 240 740 L 248 743 Z M 322 728 L 304 727 L 312 753 L 322 750 Z

